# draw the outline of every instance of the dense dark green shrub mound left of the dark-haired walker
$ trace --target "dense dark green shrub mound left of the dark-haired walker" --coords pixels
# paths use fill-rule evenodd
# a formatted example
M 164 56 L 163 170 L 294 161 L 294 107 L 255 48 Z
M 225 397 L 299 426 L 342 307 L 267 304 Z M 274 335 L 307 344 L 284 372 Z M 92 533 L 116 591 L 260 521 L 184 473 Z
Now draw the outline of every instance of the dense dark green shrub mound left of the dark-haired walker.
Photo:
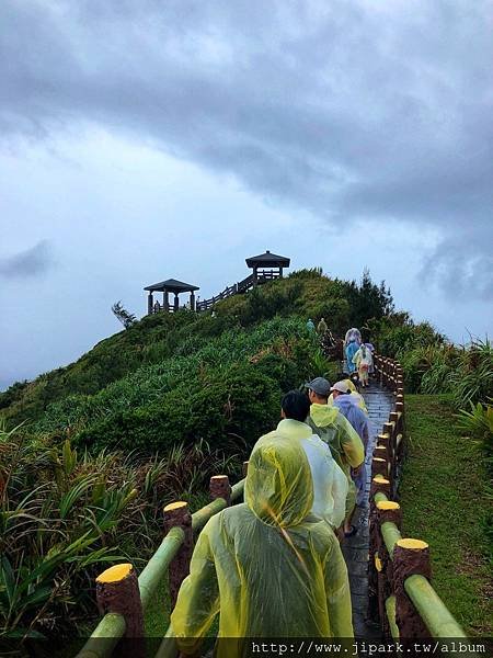
M 76 435 L 91 450 L 134 450 L 167 454 L 173 445 L 207 441 L 223 449 L 230 436 L 253 445 L 277 417 L 280 388 L 253 364 L 207 368 L 151 404 L 91 422 Z

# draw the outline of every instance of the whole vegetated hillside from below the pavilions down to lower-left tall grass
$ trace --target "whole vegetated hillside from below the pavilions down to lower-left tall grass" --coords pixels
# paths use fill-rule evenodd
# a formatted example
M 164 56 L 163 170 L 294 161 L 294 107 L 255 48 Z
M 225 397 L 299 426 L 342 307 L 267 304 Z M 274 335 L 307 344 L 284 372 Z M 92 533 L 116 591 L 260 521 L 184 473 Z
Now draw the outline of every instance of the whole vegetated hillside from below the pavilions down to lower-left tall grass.
M 366 327 L 381 353 L 402 362 L 408 390 L 449 392 L 462 406 L 491 396 L 490 344 L 448 344 L 394 313 L 368 273 L 357 284 L 303 270 L 232 296 L 214 315 L 145 317 L 76 363 L 0 394 L 0 637 L 64 644 L 90 631 L 104 565 L 141 568 L 162 538 L 164 504 L 197 509 L 211 475 L 238 480 L 283 393 L 335 376 L 339 364 L 307 329 L 322 316 L 335 336 Z M 467 432 L 491 468 L 491 409 L 469 416 Z M 163 586 L 161 617 L 165 599 Z

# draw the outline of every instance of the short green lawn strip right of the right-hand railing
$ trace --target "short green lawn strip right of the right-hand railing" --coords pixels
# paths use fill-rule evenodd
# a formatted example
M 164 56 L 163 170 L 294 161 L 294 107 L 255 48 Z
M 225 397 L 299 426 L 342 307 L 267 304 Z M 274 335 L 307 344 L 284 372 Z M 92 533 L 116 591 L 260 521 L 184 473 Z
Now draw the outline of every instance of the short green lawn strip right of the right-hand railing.
M 484 453 L 463 436 L 449 398 L 406 396 L 403 534 L 424 540 L 433 585 L 466 633 L 493 635 L 493 579 L 485 535 Z

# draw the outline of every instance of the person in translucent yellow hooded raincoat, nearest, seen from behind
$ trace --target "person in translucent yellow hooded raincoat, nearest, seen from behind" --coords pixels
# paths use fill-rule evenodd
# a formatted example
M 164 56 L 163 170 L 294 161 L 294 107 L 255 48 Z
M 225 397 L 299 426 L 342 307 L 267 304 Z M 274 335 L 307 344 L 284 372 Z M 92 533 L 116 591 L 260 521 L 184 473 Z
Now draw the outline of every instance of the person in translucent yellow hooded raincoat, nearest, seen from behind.
M 245 502 L 208 521 L 180 589 L 171 631 L 184 655 L 217 614 L 218 658 L 250 655 L 249 637 L 353 637 L 346 565 L 312 503 L 298 442 L 273 436 L 252 452 Z

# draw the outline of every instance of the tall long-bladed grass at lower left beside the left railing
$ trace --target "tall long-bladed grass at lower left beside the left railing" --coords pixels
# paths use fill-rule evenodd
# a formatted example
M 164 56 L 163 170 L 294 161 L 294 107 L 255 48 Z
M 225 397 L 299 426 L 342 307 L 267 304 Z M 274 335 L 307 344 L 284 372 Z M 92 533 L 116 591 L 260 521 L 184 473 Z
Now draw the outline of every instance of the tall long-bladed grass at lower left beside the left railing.
M 141 566 L 162 535 L 162 507 L 192 500 L 240 461 L 204 442 L 164 457 L 78 453 L 0 428 L 0 636 L 67 635 L 95 614 L 104 563 Z M 136 556 L 138 556 L 136 558 Z

